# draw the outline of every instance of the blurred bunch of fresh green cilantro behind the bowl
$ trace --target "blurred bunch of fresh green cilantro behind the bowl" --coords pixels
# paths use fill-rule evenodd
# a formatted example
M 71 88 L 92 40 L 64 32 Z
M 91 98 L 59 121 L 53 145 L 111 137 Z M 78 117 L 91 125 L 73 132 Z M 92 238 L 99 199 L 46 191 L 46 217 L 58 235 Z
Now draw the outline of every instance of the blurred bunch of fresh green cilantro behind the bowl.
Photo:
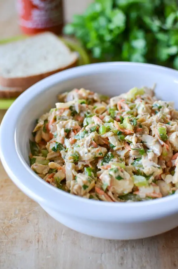
M 76 36 L 99 61 L 132 61 L 178 69 L 176 0 L 95 0 L 75 15 L 65 34 Z

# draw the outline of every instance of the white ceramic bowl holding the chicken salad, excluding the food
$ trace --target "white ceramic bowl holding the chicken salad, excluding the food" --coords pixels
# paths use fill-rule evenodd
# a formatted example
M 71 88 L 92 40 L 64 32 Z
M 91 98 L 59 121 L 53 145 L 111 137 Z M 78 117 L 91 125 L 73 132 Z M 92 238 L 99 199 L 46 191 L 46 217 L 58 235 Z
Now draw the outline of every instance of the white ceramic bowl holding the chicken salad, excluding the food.
M 95 237 L 137 239 L 178 225 L 178 195 L 146 202 L 111 203 L 71 195 L 49 185 L 29 167 L 35 119 L 55 106 L 56 96 L 86 88 L 110 96 L 134 86 L 153 86 L 156 96 L 178 108 L 178 72 L 139 63 L 99 63 L 52 75 L 25 91 L 8 109 L 0 128 L 1 161 L 13 182 L 64 225 Z

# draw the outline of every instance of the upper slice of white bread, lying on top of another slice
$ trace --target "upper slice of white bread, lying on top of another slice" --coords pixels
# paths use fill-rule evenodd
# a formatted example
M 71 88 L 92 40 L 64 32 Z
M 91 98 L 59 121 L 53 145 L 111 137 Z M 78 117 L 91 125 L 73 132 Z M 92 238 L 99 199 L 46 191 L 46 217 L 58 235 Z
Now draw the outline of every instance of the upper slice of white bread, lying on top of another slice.
M 0 85 L 28 88 L 51 74 L 77 64 L 71 52 L 50 32 L 0 45 Z

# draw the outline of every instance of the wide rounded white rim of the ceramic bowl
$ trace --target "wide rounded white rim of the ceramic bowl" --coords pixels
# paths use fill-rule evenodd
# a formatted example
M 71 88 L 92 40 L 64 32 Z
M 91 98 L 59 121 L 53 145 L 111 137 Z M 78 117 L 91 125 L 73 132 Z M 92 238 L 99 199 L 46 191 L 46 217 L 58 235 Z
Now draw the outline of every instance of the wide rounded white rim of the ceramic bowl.
M 178 72 L 176 70 L 145 63 L 130 63 L 130 62 L 108 62 L 95 63 L 74 67 L 64 70 L 57 74 L 53 74 L 38 83 L 31 86 L 28 90 L 22 93 L 11 107 L 6 112 L 0 126 L 0 158 L 1 162 L 12 181 L 29 197 L 34 199 L 39 204 L 53 208 L 59 211 L 59 202 L 68 204 L 70 209 L 64 206 L 60 208 L 63 213 L 73 212 L 76 216 L 88 218 L 90 216 L 97 219 L 108 220 L 106 210 L 109 210 L 109 216 L 112 220 L 129 221 L 138 219 L 160 218 L 165 215 L 178 213 L 177 203 L 178 195 L 170 195 L 144 202 L 129 202 L 129 203 L 111 203 L 102 202 L 92 199 L 85 199 L 76 195 L 71 195 L 67 192 L 59 190 L 52 185 L 46 183 L 39 178 L 28 166 L 22 156 L 19 154 L 18 143 L 16 141 L 16 126 L 18 115 L 31 102 L 34 97 L 39 96 L 42 92 L 48 90 L 49 87 L 60 84 L 62 81 L 78 77 L 81 74 L 93 74 L 95 71 L 107 71 L 108 68 L 122 68 L 123 66 L 141 67 L 148 70 L 155 70 L 161 73 L 171 75 L 176 80 Z M 178 82 L 177 82 L 178 83 Z M 23 104 L 23 105 L 22 105 Z M 8 123 L 8 124 L 7 124 Z M 6 149 L 11 149 L 9 154 Z M 15 160 L 15 162 L 14 162 Z M 80 212 L 76 208 L 80 208 Z M 147 210 L 145 210 L 147 207 Z M 93 210 L 93 211 L 92 211 Z M 91 212 L 90 212 L 91 211 Z M 118 216 L 119 213 L 119 216 Z M 122 216 L 120 215 L 122 214 Z

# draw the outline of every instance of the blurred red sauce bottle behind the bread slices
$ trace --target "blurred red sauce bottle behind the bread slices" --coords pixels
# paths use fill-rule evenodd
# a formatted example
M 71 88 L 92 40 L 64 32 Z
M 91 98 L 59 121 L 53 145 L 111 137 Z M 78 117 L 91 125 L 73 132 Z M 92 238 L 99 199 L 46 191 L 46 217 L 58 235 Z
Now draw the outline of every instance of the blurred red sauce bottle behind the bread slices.
M 62 0 L 18 0 L 19 25 L 25 34 L 62 33 Z

